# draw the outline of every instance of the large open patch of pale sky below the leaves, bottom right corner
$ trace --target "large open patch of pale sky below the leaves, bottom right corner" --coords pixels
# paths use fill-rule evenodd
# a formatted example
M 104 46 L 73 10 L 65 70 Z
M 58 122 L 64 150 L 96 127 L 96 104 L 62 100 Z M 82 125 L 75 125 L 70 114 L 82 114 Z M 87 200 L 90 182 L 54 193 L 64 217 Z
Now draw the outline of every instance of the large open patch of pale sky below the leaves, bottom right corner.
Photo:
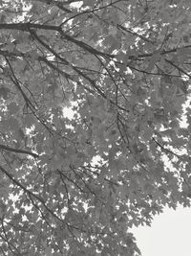
M 191 209 L 179 206 L 156 216 L 151 227 L 133 228 L 142 256 L 191 255 Z

